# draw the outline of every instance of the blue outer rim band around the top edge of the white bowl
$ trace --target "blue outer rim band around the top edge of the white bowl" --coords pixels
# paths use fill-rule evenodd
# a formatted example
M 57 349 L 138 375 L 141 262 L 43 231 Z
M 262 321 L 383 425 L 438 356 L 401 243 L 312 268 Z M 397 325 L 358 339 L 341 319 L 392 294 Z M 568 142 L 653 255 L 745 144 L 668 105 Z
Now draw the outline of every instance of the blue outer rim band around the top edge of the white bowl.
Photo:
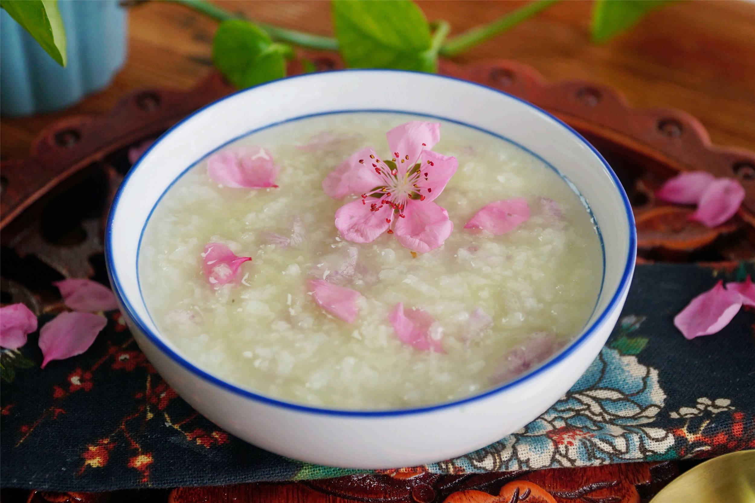
M 220 103 L 223 100 L 227 100 L 230 97 L 236 96 L 237 94 L 242 94 L 247 91 L 250 91 L 251 89 L 260 88 L 265 85 L 275 85 L 276 82 L 281 82 L 283 80 L 291 80 L 291 79 L 302 79 L 302 78 L 312 78 L 316 77 L 318 75 L 322 75 L 323 73 L 341 73 L 341 72 L 393 72 L 393 73 L 410 73 L 414 74 L 417 73 L 421 76 L 430 77 L 430 78 L 436 78 L 436 79 L 449 79 L 449 80 L 455 80 L 458 82 L 463 82 L 466 85 L 475 85 L 481 88 L 488 89 L 490 91 L 495 91 L 500 94 L 504 94 L 504 96 L 510 97 L 514 100 L 517 100 L 526 106 L 531 107 L 534 110 L 537 110 L 539 113 L 544 114 L 545 116 L 549 117 L 553 121 L 557 122 L 559 125 L 562 125 L 564 128 L 566 128 L 569 132 L 575 135 L 575 137 L 578 138 L 578 140 L 581 140 L 582 143 L 587 145 L 587 147 L 590 148 L 590 150 L 595 154 L 595 156 L 602 162 L 603 167 L 606 169 L 606 171 L 611 176 L 614 186 L 616 190 L 618 190 L 619 195 L 621 196 L 622 201 L 624 202 L 624 212 L 627 216 L 627 224 L 629 224 L 629 253 L 627 254 L 627 263 L 624 266 L 624 272 L 621 275 L 621 281 L 619 282 L 618 288 L 616 289 L 616 292 L 612 296 L 611 300 L 609 301 L 609 304 L 606 306 L 605 309 L 602 310 L 602 313 L 599 314 L 598 318 L 590 325 L 590 327 L 584 331 L 582 335 L 580 335 L 578 338 L 576 338 L 574 341 L 572 341 L 568 346 L 564 347 L 556 356 L 553 356 L 550 360 L 547 360 L 543 365 L 538 366 L 536 369 L 533 369 L 531 372 L 525 373 L 519 378 L 516 378 L 513 381 L 509 381 L 506 384 L 501 384 L 498 387 L 494 387 L 490 390 L 485 391 L 485 393 L 479 393 L 477 395 L 473 395 L 472 397 L 466 397 L 461 400 L 455 400 L 452 402 L 446 402 L 446 403 L 439 403 L 432 406 L 423 406 L 423 407 L 415 407 L 412 409 L 387 409 L 387 410 L 377 410 L 377 411 L 371 411 L 371 410 L 346 410 L 346 409 L 326 409 L 322 407 L 313 407 L 313 406 L 306 406 L 301 405 L 298 403 L 291 403 L 291 402 L 285 402 L 283 400 L 276 400 L 274 398 L 265 397 L 264 395 L 254 393 L 253 391 L 246 390 L 242 387 L 237 386 L 236 384 L 231 384 L 230 382 L 223 381 L 220 378 L 215 377 L 214 375 L 211 375 L 208 372 L 205 372 L 202 369 L 199 369 L 199 367 L 193 365 L 193 363 L 188 362 L 186 359 L 183 358 L 183 356 L 180 356 L 177 354 L 174 350 L 171 349 L 171 347 L 168 347 L 165 342 L 163 342 L 157 335 L 155 335 L 150 329 L 148 329 L 146 326 L 144 326 L 144 323 L 141 321 L 140 316 L 138 316 L 136 313 L 134 313 L 134 309 L 131 307 L 131 304 L 128 302 L 128 300 L 125 298 L 124 295 L 122 295 L 121 291 L 121 285 L 118 281 L 118 278 L 116 274 L 114 273 L 115 267 L 113 267 L 113 260 L 112 260 L 112 221 L 116 214 L 116 209 L 118 208 L 118 204 L 121 198 L 121 194 L 123 190 L 126 187 L 126 184 L 128 183 L 128 179 L 131 177 L 132 174 L 134 174 L 139 168 L 139 165 L 141 164 L 142 159 L 145 159 L 147 154 L 150 150 L 152 150 L 156 145 L 162 140 L 164 137 L 166 137 L 168 134 L 171 133 L 174 129 L 178 128 L 180 125 L 182 125 L 184 122 L 192 119 L 194 116 L 196 116 L 199 113 L 202 113 L 205 109 L 209 108 L 210 106 L 214 106 L 217 103 Z M 146 224 L 146 222 L 145 222 Z M 284 79 L 279 79 L 271 82 L 264 82 L 263 84 L 256 85 L 253 88 L 246 88 L 242 89 L 240 91 L 236 91 L 235 93 L 229 94 L 226 97 L 220 98 L 220 100 L 214 101 L 212 103 L 209 103 L 208 105 L 202 106 L 199 110 L 196 110 L 194 113 L 192 113 L 190 116 L 186 116 L 184 119 L 180 120 L 180 122 L 177 122 L 175 125 L 173 125 L 171 128 L 168 129 L 168 131 L 165 131 L 156 141 L 153 143 L 151 147 L 149 147 L 148 150 L 146 150 L 145 153 L 141 156 L 139 161 L 137 161 L 136 164 L 131 166 L 131 169 L 128 171 L 126 176 L 124 177 L 121 186 L 119 187 L 118 192 L 116 193 L 116 196 L 112 200 L 112 205 L 110 207 L 110 212 L 108 214 L 107 218 L 107 224 L 106 224 L 106 230 L 105 230 L 105 261 L 107 266 L 107 274 L 110 279 L 110 283 L 112 284 L 113 291 L 116 294 L 116 297 L 118 298 L 120 304 L 125 308 L 125 310 L 128 313 L 128 317 L 134 322 L 134 324 L 137 325 L 138 329 L 145 335 L 149 341 L 154 344 L 156 347 L 159 348 L 163 353 L 168 355 L 171 360 L 173 360 L 178 365 L 182 366 L 183 369 L 188 370 L 189 372 L 192 372 L 194 375 L 196 375 L 199 378 L 202 378 L 205 381 L 210 382 L 211 384 L 214 384 L 218 387 L 223 388 L 224 390 L 230 391 L 232 393 L 235 393 L 241 397 L 245 398 L 251 398 L 252 400 L 255 400 L 260 403 L 265 403 L 267 405 L 272 406 L 278 406 L 282 409 L 291 409 L 298 412 L 310 412 L 310 413 L 316 413 L 320 415 L 337 415 L 337 416 L 353 416 L 353 417 L 381 417 L 381 416 L 395 416 L 395 415 L 411 415 L 411 414 L 421 414 L 425 412 L 431 412 L 434 410 L 439 409 L 448 409 L 449 407 L 456 407 L 456 406 L 462 406 L 465 403 L 474 402 L 476 400 L 482 400 L 484 398 L 490 397 L 492 395 L 495 395 L 497 393 L 500 393 L 503 390 L 507 390 L 511 387 L 515 387 L 517 384 L 526 381 L 530 378 L 533 378 L 535 375 L 540 374 L 541 372 L 544 372 L 546 369 L 550 369 L 550 367 L 556 365 L 556 363 L 559 363 L 561 360 L 563 360 L 566 356 L 569 356 L 572 352 L 576 350 L 577 347 L 581 346 L 584 341 L 587 341 L 588 338 L 590 338 L 591 335 L 593 335 L 596 332 L 596 328 L 601 326 L 603 322 L 606 321 L 606 318 L 609 316 L 609 313 L 612 313 L 612 311 L 615 309 L 616 304 L 618 304 L 619 299 L 624 295 L 624 292 L 629 288 L 630 280 L 633 275 L 634 271 L 634 264 L 636 260 L 636 228 L 635 228 L 635 222 L 634 222 L 634 214 L 632 212 L 632 207 L 629 202 L 629 198 L 627 197 L 627 193 L 624 191 L 624 187 L 621 186 L 621 182 L 619 181 L 618 177 L 614 173 L 613 169 L 609 165 L 608 162 L 606 162 L 606 159 L 603 159 L 603 156 L 596 150 L 595 147 L 593 147 L 590 142 L 584 139 L 581 134 L 579 134 L 577 131 L 574 130 L 571 126 L 563 122 L 561 119 L 559 119 L 556 116 L 553 116 L 553 114 L 548 113 L 545 110 L 542 110 L 540 107 L 533 105 L 532 103 L 529 103 L 525 100 L 522 100 L 522 98 L 513 96 L 512 94 L 508 94 L 504 91 L 501 91 L 496 88 L 492 88 L 488 85 L 479 84 L 477 82 L 470 82 L 464 79 L 458 79 L 456 77 L 451 76 L 442 76 L 437 74 L 429 74 L 429 73 L 422 73 L 422 72 L 413 72 L 408 70 L 397 70 L 397 69 L 338 69 L 338 70 L 331 70 L 328 72 L 320 72 L 320 73 L 305 73 L 302 75 L 297 76 L 289 76 L 285 77 Z

